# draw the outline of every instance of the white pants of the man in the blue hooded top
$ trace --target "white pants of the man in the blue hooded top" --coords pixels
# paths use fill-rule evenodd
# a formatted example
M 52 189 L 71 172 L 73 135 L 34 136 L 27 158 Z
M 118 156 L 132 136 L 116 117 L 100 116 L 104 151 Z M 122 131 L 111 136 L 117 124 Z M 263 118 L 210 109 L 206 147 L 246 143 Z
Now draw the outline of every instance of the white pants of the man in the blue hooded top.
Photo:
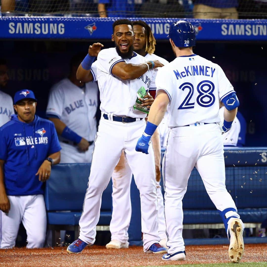
M 27 248 L 42 248 L 46 233 L 46 210 L 43 195 L 7 196 L 10 201 L 8 214 L 0 211 L 0 248 L 15 246 L 19 224 L 27 233 Z

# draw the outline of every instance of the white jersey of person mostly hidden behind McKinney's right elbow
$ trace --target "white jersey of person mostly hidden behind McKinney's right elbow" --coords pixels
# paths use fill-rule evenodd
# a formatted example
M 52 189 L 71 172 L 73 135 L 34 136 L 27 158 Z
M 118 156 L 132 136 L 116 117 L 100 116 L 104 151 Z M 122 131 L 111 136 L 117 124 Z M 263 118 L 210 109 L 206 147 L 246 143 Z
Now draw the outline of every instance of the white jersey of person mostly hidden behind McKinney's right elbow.
M 223 111 L 224 107 L 220 108 L 219 115 L 220 121 L 223 121 Z M 241 125 L 237 117 L 234 118 L 232 123 L 232 128 L 222 135 L 223 138 L 223 145 L 224 146 L 237 146 L 238 143 L 238 136 L 241 130 Z

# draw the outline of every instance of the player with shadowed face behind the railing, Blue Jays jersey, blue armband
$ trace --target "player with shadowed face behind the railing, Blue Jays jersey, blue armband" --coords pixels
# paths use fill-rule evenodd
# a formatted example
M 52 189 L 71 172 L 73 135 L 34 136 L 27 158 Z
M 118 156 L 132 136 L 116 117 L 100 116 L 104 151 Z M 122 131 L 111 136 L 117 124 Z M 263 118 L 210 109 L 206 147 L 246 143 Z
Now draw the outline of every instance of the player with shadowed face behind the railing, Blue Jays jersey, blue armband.
M 84 56 L 70 61 L 70 74 L 50 91 L 46 116 L 53 121 L 60 140 L 60 163 L 89 163 L 96 135 L 97 83 L 76 79 L 76 71 Z

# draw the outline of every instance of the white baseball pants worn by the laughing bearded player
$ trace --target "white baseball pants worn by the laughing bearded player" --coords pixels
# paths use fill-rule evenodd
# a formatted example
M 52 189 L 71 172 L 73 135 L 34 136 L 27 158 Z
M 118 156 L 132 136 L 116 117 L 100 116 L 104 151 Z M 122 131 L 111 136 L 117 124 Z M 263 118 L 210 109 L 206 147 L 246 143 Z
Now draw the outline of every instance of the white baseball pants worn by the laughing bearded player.
M 150 146 L 148 155 L 135 151 L 137 140 L 145 127 L 144 119 L 132 123 L 109 121 L 103 118 L 100 120 L 92 156 L 88 189 L 79 222 L 79 238 L 87 244 L 95 242 L 101 196 L 119 162 L 122 150 L 125 152 L 136 186 L 140 191 L 144 251 L 146 252 L 153 243 L 160 240 L 153 149 Z

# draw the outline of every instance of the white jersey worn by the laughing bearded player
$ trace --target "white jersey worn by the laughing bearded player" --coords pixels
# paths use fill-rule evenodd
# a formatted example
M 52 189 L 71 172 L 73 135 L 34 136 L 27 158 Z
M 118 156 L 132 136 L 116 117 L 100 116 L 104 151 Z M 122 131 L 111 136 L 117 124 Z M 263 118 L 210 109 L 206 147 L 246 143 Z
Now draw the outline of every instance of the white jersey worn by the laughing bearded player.
M 129 116 L 132 118 L 145 118 L 146 113 L 133 109 L 137 98 L 137 91 L 144 87 L 146 91 L 155 89 L 155 71 L 148 70 L 135 80 L 120 80 L 112 74 L 113 66 L 125 61 L 130 64 L 140 64 L 146 59 L 133 52 L 131 58 L 123 59 L 116 52 L 116 48 L 103 49 L 97 56 L 97 81 L 100 91 L 100 110 L 115 116 Z M 94 70 L 93 70 L 94 71 Z M 111 74 L 111 75 L 110 75 Z M 109 88 L 112 88 L 110 90 Z

